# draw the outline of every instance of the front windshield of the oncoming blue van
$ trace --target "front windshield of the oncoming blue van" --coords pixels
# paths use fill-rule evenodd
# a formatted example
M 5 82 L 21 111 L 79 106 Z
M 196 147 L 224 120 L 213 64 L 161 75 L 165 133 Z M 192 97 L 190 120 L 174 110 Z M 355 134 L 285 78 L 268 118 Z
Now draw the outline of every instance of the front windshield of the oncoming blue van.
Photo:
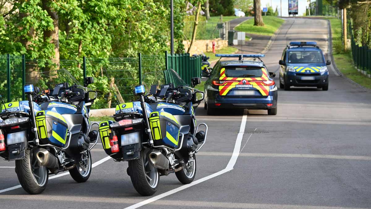
M 289 52 L 289 63 L 323 63 L 322 53 L 319 51 L 292 51 Z

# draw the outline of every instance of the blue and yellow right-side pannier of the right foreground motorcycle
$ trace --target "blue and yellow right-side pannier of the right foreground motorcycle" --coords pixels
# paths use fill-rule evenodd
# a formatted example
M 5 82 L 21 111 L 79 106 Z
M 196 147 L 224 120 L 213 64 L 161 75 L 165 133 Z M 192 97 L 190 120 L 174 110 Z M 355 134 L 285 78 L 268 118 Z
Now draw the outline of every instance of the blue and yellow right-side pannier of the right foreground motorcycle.
M 149 122 L 155 146 L 178 148 L 180 126 L 173 115 L 168 112 L 151 112 Z

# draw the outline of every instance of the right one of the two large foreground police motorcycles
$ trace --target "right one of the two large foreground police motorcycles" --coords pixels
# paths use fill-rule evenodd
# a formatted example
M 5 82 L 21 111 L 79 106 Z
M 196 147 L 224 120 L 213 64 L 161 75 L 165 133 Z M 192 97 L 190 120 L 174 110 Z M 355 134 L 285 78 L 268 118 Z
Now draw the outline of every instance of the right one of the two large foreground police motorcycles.
M 147 81 L 162 85 L 152 85 L 149 94 L 143 85 L 136 86 L 134 95 L 139 100 L 117 105 L 115 121 L 99 125 L 106 154 L 115 161 L 128 161 L 127 173 L 143 196 L 154 194 L 160 176 L 171 173 L 181 183 L 191 183 L 196 176 L 196 153 L 207 136 L 207 125 L 196 125 L 195 117 L 204 99 L 204 93 L 193 88 L 200 78 L 192 78 L 190 87 L 174 70 L 165 70 L 145 74 Z

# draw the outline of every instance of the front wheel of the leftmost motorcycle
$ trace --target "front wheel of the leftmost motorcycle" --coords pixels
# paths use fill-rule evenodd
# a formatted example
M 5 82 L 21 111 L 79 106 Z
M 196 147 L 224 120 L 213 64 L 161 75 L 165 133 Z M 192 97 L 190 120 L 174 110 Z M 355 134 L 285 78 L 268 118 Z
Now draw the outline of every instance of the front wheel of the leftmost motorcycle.
M 76 167 L 69 170 L 69 173 L 72 179 L 78 183 L 85 182 L 89 179 L 92 173 L 92 156 L 89 150 L 81 154 L 80 161 L 76 164 Z

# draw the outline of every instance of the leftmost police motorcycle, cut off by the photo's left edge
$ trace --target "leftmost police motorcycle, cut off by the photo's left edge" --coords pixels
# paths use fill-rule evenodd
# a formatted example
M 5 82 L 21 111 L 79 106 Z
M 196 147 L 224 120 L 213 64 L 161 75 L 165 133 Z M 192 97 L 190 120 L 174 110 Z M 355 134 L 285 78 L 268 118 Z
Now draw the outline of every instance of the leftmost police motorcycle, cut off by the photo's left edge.
M 39 87 L 26 84 L 28 101 L 3 102 L 0 114 L 0 156 L 15 160 L 19 182 L 30 194 L 43 192 L 49 174 L 61 171 L 68 170 L 77 182 L 88 180 L 90 150 L 98 141 L 89 120 L 97 96 L 87 88 L 93 78 L 86 77 L 81 86 L 65 69 L 37 77 L 46 89 L 40 93 Z M 53 89 L 47 89 L 50 86 Z

